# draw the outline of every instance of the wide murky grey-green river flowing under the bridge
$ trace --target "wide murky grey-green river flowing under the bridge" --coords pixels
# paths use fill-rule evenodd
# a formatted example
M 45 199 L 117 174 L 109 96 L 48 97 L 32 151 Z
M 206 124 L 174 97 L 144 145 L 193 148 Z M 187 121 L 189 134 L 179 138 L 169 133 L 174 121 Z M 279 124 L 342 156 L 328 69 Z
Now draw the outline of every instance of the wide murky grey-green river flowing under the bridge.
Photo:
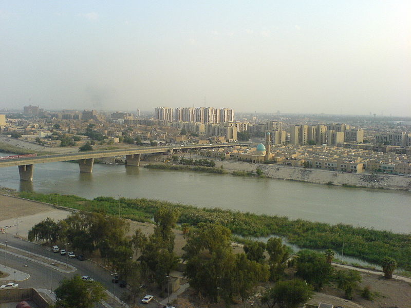
M 80 174 L 78 164 L 68 162 L 34 165 L 33 182 L 20 181 L 17 167 L 0 168 L 0 185 L 84 198 L 159 199 L 199 207 L 220 207 L 411 233 L 411 194 L 403 191 L 124 165 L 95 164 L 92 174 Z

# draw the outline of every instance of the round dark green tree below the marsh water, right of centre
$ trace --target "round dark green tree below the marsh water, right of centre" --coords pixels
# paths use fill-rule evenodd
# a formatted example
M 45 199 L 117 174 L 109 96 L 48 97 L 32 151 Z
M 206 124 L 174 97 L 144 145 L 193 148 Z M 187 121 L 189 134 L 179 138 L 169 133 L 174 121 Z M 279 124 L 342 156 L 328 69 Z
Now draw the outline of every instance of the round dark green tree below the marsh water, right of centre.
M 295 275 L 314 285 L 319 290 L 332 276 L 333 268 L 323 254 L 304 249 L 298 252 Z

